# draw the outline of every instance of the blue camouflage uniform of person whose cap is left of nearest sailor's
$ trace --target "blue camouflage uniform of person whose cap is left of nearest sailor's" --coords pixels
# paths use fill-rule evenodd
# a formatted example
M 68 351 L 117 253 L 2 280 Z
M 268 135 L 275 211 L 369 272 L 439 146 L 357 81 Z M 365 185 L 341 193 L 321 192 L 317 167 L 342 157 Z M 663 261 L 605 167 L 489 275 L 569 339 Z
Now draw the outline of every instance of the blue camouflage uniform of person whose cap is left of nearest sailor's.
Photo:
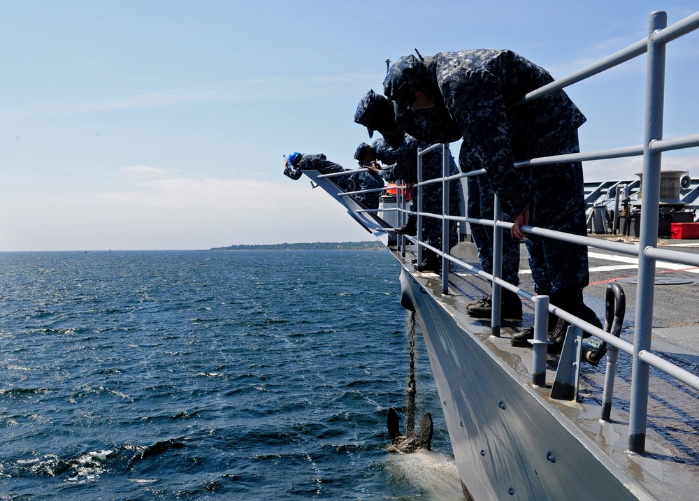
M 431 143 L 417 140 L 405 134 L 403 143 L 398 148 L 390 147 L 383 138 L 373 143 L 376 158 L 386 165 L 381 170 L 381 176 L 389 182 L 403 180 L 406 184 L 417 183 L 417 150 L 425 149 Z M 459 173 L 454 158 L 449 155 L 449 175 Z M 423 157 L 422 178 L 424 181 L 442 177 L 442 150 L 434 150 Z M 417 191 L 417 190 L 415 190 Z M 449 215 L 459 215 L 459 200 L 461 184 L 458 180 L 449 182 Z M 417 194 L 412 196 L 410 210 L 417 211 L 415 206 Z M 442 214 L 442 184 L 428 184 L 422 189 L 422 212 Z M 422 239 L 436 249 L 442 249 L 442 220 L 424 216 L 422 218 Z M 449 249 L 459 242 L 456 222 L 449 222 Z

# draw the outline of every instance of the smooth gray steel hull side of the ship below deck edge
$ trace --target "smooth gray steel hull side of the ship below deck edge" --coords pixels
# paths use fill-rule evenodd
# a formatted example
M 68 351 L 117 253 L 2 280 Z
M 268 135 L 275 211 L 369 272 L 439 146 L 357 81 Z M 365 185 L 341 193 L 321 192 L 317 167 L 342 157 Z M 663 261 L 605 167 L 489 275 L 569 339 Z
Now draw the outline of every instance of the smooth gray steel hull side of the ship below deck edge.
M 516 356 L 494 353 L 477 324 L 464 325 L 458 301 L 438 299 L 436 281 L 419 275 L 403 267 L 403 300 L 422 328 L 467 498 L 654 499 L 524 383 Z

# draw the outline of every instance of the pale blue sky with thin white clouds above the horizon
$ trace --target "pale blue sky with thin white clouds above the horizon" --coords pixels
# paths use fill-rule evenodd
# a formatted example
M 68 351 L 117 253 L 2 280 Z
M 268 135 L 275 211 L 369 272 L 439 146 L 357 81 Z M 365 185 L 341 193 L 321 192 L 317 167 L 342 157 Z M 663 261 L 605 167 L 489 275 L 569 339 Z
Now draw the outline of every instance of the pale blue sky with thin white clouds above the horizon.
M 386 59 L 514 50 L 555 78 L 690 0 L 0 0 L 0 252 L 371 240 L 282 155 L 354 168 Z M 665 138 L 695 134 L 699 33 L 668 46 Z M 566 92 L 583 151 L 642 143 L 644 59 Z M 374 139 L 377 136 L 374 136 Z M 457 147 L 453 148 L 458 152 Z M 635 178 L 640 159 L 586 162 Z M 663 168 L 699 176 L 696 148 Z

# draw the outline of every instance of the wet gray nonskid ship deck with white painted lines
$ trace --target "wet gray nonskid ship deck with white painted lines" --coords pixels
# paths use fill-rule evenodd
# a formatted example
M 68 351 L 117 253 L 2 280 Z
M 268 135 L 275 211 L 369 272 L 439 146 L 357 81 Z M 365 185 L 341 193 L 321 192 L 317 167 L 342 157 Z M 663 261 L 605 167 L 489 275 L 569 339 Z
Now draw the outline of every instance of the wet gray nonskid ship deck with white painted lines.
M 674 241 L 668 240 L 672 245 Z M 699 253 L 699 242 L 682 240 L 682 250 Z M 691 247 L 690 247 L 691 246 Z M 672 248 L 672 247 L 670 247 Z M 426 289 L 442 302 L 467 331 L 477 335 L 503 361 L 531 384 L 532 351 L 510 345 L 509 336 L 519 329 L 533 325 L 533 304 L 524 300 L 524 319 L 521 323 L 503 321 L 501 336 L 492 337 L 489 319 L 474 319 L 466 313 L 471 300 L 487 296 L 490 285 L 475 273 L 452 263 L 449 274 L 449 294 L 442 296 L 441 278 L 435 273 L 417 273 L 411 260 L 415 247 L 408 246 L 405 257 L 394 252 L 403 266 Z M 521 252 L 521 288 L 532 291 L 531 273 L 524 246 Z M 475 246 L 461 242 L 452 249 L 452 255 L 477 266 Z M 626 295 L 626 319 L 621 337 L 633 342 L 637 268 L 628 262 L 628 256 L 619 256 L 598 249 L 589 249 L 590 285 L 585 289 L 585 301 L 598 314 L 605 316 L 607 284 L 617 281 Z M 631 260 L 633 261 L 633 260 Z M 654 293 L 653 351 L 656 355 L 680 367 L 699 374 L 699 269 L 688 266 L 672 269 L 658 263 Z M 582 365 L 578 402 L 582 405 L 549 399 L 550 389 L 540 389 L 543 398 L 575 423 L 603 452 L 624 467 L 644 484 L 658 499 L 696 499 L 699 491 L 699 395 L 675 379 L 651 368 L 649 410 L 647 421 L 647 454 L 630 455 L 628 447 L 628 417 L 630 409 L 631 358 L 619 353 L 617 377 L 614 386 L 612 423 L 601 423 L 600 412 L 605 379 L 606 357 L 598 366 Z M 549 357 L 547 385 L 554 381 L 557 359 Z M 675 487 L 668 487 L 670 485 Z M 662 483 L 661 483 L 662 482 Z M 693 486 L 693 487 L 690 487 Z M 674 489 L 676 492 L 673 492 Z M 669 489 L 669 491 L 668 491 Z

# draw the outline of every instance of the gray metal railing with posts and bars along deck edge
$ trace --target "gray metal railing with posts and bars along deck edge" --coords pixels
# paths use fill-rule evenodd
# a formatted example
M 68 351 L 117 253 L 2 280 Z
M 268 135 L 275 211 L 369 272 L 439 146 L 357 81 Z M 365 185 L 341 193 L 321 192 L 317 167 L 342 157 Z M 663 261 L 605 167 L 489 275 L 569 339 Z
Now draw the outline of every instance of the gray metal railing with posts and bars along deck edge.
M 492 318 L 492 333 L 499 335 L 500 333 L 500 295 L 501 288 L 505 287 L 513 291 L 519 296 L 530 300 L 535 305 L 535 322 L 534 322 L 534 361 L 533 361 L 533 384 L 542 386 L 545 384 L 545 368 L 546 368 L 546 344 L 547 344 L 547 317 L 551 312 L 565 321 L 570 322 L 572 326 L 582 328 L 584 331 L 598 337 L 603 342 L 606 342 L 611 347 L 623 351 L 633 357 L 632 365 L 632 380 L 631 380 L 631 395 L 630 395 L 630 419 L 629 419 L 629 434 L 628 448 L 631 452 L 644 453 L 646 426 L 647 426 L 647 409 L 648 409 L 648 392 L 649 392 L 649 368 L 654 367 L 671 377 L 675 377 L 680 382 L 691 386 L 693 389 L 699 390 L 699 377 L 692 374 L 677 365 L 674 365 L 663 358 L 660 358 L 651 352 L 651 327 L 653 320 L 653 300 L 654 300 L 654 285 L 655 285 L 655 265 L 656 260 L 663 259 L 674 263 L 682 263 L 689 266 L 699 266 L 698 254 L 687 254 L 677 251 L 669 251 L 658 249 L 658 205 L 660 198 L 660 179 L 661 179 L 661 154 L 670 150 L 679 150 L 689 147 L 699 146 L 699 134 L 692 136 L 684 136 L 672 139 L 663 139 L 663 101 L 664 101 L 664 78 L 665 78 L 665 45 L 670 41 L 699 29 L 699 12 L 695 13 L 684 20 L 667 25 L 667 15 L 664 12 L 655 12 L 650 15 L 649 36 L 643 40 L 630 45 L 628 48 L 614 53 L 596 64 L 587 66 L 580 71 L 572 73 L 556 80 L 555 82 L 545 85 L 540 89 L 530 92 L 524 96 L 521 101 L 515 106 L 521 106 L 524 103 L 529 103 L 535 99 L 556 92 L 559 89 L 568 87 L 576 82 L 580 82 L 593 75 L 597 75 L 614 66 L 618 66 L 630 59 L 640 57 L 647 54 L 647 90 L 646 90 L 646 108 L 645 108 L 645 127 L 644 127 L 644 142 L 642 145 L 633 145 L 628 147 L 619 147 L 610 150 L 598 150 L 592 152 L 580 152 L 575 154 L 562 154 L 550 157 L 541 157 L 524 161 L 517 161 L 514 166 L 517 168 L 531 167 L 540 168 L 550 164 L 587 161 L 587 160 L 605 160 L 621 157 L 643 157 L 643 173 L 642 180 L 644 184 L 643 198 L 644 203 L 641 208 L 640 215 L 640 241 L 638 245 L 626 244 L 621 242 L 600 241 L 595 238 L 570 235 L 558 231 L 552 231 L 545 228 L 537 228 L 535 226 L 522 226 L 522 230 L 533 235 L 541 235 L 549 238 L 556 238 L 566 242 L 572 242 L 579 245 L 596 247 L 598 249 L 608 249 L 621 254 L 637 256 L 639 259 L 638 284 L 637 284 L 637 300 L 635 308 L 635 331 L 633 344 L 619 339 L 614 335 L 603 331 L 596 326 L 593 326 L 581 319 L 572 316 L 572 314 L 561 310 L 555 305 L 549 304 L 547 296 L 533 296 L 532 294 L 519 289 L 517 286 L 509 284 L 500 278 L 502 272 L 502 245 L 503 245 L 503 230 L 508 230 L 512 227 L 512 223 L 503 221 L 500 204 L 496 199 L 496 212 L 492 220 L 489 219 L 473 219 L 462 217 L 460 215 L 449 215 L 449 181 L 462 177 L 473 175 L 482 175 L 484 170 L 476 170 L 469 173 L 449 176 L 449 150 L 448 145 L 433 145 L 418 153 L 418 184 L 417 184 L 417 219 L 418 233 L 417 238 L 403 236 L 399 245 L 403 246 L 403 254 L 405 253 L 405 244 L 409 240 L 417 245 L 417 259 L 421 262 L 421 252 L 423 249 L 430 249 L 442 257 L 442 292 L 448 293 L 449 284 L 449 262 L 453 262 L 466 268 L 480 277 L 489 280 L 493 284 L 493 318 Z M 422 177 L 422 156 L 435 148 L 442 147 L 444 155 L 444 172 L 443 177 L 433 180 L 423 180 Z M 431 214 L 422 211 L 422 189 L 428 184 L 436 182 L 442 183 L 443 194 L 443 212 L 441 215 Z M 402 212 L 409 212 L 405 208 L 398 209 Z M 422 241 L 421 222 L 424 217 L 436 217 L 442 219 L 442 249 L 435 249 Z M 458 221 L 469 224 L 482 224 L 493 226 L 493 270 L 492 273 L 487 273 L 485 270 L 471 266 L 470 264 L 456 259 L 449 255 L 449 222 Z

